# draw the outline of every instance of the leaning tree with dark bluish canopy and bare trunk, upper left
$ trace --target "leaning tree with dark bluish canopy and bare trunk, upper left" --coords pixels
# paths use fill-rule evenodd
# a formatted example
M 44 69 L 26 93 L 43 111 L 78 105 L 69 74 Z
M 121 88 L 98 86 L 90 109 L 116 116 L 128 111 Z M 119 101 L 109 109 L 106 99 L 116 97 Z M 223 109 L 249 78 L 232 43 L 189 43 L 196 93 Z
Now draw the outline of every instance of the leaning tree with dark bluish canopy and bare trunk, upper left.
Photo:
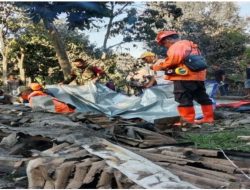
M 54 20 L 58 18 L 59 14 L 66 13 L 69 28 L 89 29 L 92 26 L 93 18 L 103 18 L 109 14 L 106 3 L 102 2 L 17 2 L 16 4 L 25 9 L 34 23 L 43 22 L 54 45 L 65 78 L 70 74 L 71 65 Z

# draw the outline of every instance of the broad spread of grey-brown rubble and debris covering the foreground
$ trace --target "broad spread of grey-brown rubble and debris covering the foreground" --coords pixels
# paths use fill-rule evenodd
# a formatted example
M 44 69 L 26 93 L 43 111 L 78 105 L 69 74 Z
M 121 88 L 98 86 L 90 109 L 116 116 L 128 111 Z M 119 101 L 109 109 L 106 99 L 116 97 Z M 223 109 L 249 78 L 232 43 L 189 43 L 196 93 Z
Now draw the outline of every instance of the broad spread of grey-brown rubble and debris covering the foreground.
M 157 120 L 154 127 L 141 119 L 59 115 L 15 105 L 3 105 L 0 112 L 1 188 L 250 188 L 241 172 L 250 173 L 250 153 L 224 151 L 235 168 L 220 150 L 179 143 L 181 131 L 169 128 L 177 118 Z M 240 123 L 249 117 L 216 115 L 219 125 L 223 118 Z

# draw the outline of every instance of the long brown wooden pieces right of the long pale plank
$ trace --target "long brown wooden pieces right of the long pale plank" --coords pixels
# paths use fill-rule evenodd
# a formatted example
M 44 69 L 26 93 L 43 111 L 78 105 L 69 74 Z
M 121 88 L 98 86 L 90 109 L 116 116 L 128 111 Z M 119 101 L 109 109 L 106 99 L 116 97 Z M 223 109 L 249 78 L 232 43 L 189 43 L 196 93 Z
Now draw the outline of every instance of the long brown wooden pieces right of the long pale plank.
M 236 169 L 217 150 L 166 146 L 134 149 L 134 151 L 199 188 L 250 187 L 249 179 L 239 171 L 250 173 L 249 157 L 245 158 L 248 160 L 246 162 L 245 159 L 237 156 L 237 153 L 233 157 L 235 159 L 233 162 L 240 167 L 239 169 Z

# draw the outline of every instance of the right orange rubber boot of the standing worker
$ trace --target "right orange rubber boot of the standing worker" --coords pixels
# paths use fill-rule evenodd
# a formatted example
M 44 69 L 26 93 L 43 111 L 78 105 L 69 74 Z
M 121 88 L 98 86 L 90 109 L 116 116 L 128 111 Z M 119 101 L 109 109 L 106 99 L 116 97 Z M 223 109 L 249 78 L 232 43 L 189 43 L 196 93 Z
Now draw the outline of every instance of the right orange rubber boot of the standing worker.
M 196 124 L 214 123 L 214 110 L 213 105 L 201 105 L 203 119 L 195 120 Z

